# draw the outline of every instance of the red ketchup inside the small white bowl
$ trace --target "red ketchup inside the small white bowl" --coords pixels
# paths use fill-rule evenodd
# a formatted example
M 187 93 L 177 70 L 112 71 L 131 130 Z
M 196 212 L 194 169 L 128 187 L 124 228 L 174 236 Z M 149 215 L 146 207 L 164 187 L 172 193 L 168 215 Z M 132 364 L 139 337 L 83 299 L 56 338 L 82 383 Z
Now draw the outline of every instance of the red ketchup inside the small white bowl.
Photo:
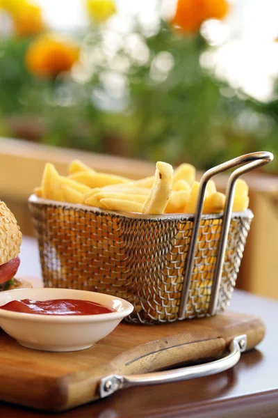
M 53 299 L 53 300 L 12 300 L 0 309 L 40 315 L 98 315 L 116 312 L 115 309 L 90 302 L 89 300 Z

